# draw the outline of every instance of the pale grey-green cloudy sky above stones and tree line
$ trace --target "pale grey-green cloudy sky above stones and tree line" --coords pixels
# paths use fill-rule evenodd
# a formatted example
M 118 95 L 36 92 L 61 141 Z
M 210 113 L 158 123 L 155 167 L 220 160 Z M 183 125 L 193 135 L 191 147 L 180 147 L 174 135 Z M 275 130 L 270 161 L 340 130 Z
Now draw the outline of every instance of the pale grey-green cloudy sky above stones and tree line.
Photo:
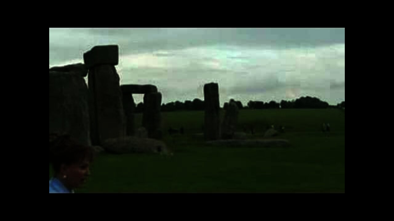
M 163 103 L 204 99 L 219 83 L 233 98 L 345 100 L 345 29 L 49 29 L 49 67 L 83 63 L 95 45 L 119 45 L 121 84 L 154 84 Z M 142 96 L 134 96 L 136 102 Z

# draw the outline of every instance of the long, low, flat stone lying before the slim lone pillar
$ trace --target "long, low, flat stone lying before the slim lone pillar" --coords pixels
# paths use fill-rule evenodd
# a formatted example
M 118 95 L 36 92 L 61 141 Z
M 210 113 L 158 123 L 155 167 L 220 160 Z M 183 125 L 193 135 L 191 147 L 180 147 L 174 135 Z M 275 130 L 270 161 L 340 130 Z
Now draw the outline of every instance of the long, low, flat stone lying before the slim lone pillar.
M 208 146 L 226 146 L 226 147 L 290 147 L 290 142 L 283 139 L 267 140 L 215 140 L 205 143 Z

